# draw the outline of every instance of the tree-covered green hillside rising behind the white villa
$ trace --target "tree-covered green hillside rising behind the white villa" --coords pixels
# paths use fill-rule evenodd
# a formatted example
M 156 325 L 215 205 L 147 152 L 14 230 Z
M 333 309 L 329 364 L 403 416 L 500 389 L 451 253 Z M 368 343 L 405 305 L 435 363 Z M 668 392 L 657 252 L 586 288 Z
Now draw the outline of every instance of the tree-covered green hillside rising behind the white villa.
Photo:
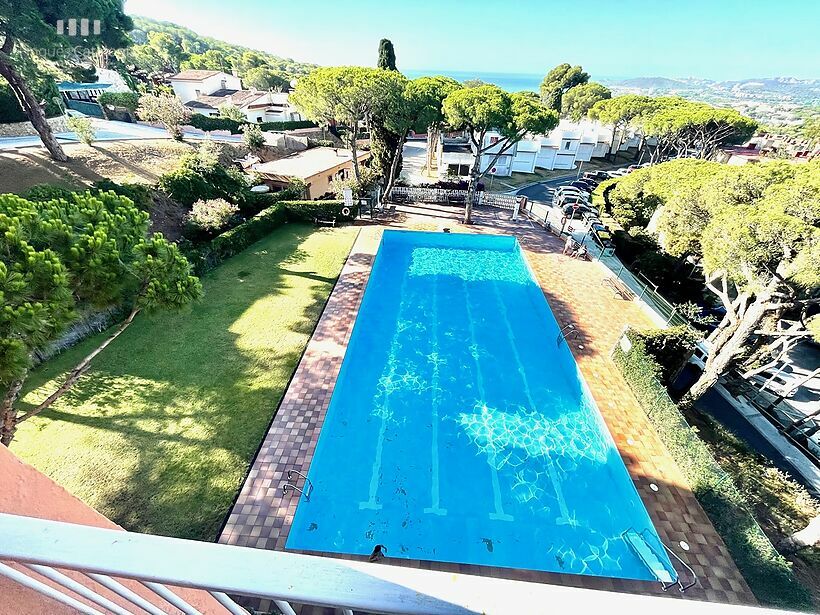
M 250 73 L 256 87 L 280 85 L 316 68 L 315 64 L 283 58 L 267 51 L 250 49 L 208 36 L 167 21 L 132 16 L 134 45 L 118 53 L 126 64 L 147 72 L 176 72 L 188 68 L 236 70 Z

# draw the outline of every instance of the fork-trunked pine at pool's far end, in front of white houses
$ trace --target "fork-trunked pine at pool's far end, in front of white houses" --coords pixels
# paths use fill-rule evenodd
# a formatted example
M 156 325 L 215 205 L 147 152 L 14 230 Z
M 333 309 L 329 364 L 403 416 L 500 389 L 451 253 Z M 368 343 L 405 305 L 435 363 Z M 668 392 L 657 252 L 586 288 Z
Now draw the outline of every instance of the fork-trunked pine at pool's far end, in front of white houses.
M 535 94 L 508 94 L 494 85 L 456 90 L 444 99 L 442 109 L 450 126 L 468 132 L 475 153 L 464 209 L 464 222 L 470 224 L 481 178 L 527 133 L 546 134 L 555 128 L 558 113 Z M 491 131 L 498 132 L 497 140 L 488 138 Z M 483 164 L 485 155 L 490 156 L 487 164 Z

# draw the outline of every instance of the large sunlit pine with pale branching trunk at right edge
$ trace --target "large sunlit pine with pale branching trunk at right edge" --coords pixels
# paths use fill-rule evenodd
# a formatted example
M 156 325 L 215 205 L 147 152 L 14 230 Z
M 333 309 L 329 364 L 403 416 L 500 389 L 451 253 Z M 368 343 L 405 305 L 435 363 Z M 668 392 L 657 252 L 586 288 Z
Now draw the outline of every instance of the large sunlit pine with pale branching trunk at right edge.
M 726 308 L 684 403 L 728 370 L 759 362 L 761 351 L 777 346 L 771 340 L 811 333 L 809 315 L 820 303 L 820 161 L 730 167 L 676 160 L 636 174 L 643 179 L 622 189 L 663 208 L 661 245 L 673 256 L 700 258 L 706 285 Z M 786 314 L 796 327 L 778 326 Z

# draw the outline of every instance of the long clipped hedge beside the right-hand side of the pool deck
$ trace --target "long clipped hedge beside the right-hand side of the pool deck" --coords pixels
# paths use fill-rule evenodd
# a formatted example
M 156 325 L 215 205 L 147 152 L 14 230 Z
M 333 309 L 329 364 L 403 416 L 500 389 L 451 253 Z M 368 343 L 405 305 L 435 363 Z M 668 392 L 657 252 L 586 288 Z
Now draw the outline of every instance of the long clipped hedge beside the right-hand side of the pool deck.
M 686 423 L 658 381 L 661 367 L 647 354 L 640 334 L 629 330 L 625 335 L 631 348 L 624 351 L 617 345 L 612 358 L 689 481 L 692 492 L 723 538 L 755 597 L 767 606 L 811 609 L 811 596 L 795 578 L 791 564 L 772 546 L 731 477 Z

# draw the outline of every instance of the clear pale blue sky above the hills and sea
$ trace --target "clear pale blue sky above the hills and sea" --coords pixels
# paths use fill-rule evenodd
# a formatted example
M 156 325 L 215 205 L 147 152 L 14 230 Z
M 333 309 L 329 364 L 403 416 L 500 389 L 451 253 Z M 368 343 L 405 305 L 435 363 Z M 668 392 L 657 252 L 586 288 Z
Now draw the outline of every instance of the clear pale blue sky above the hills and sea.
M 387 37 L 400 69 L 820 78 L 814 0 L 127 0 L 126 11 L 323 65 L 373 65 Z

